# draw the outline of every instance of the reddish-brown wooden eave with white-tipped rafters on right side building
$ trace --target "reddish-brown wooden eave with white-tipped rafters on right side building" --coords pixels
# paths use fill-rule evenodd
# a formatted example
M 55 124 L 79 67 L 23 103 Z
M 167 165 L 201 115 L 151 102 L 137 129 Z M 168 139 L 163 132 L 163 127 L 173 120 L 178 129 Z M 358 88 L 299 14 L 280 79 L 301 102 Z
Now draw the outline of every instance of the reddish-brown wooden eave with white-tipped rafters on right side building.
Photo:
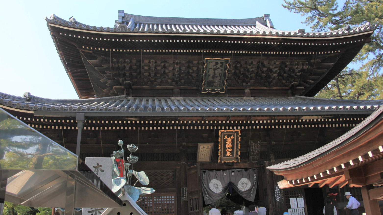
M 382 119 L 383 108 L 379 108 L 361 122 L 360 127 L 358 125 L 334 140 L 333 142 L 340 143 L 329 148 L 328 151 L 324 150 L 323 153 L 303 163 L 299 163 L 300 158 L 293 159 L 298 161 L 297 165 L 283 168 L 281 163 L 269 166 L 268 169 L 284 176 L 285 180 L 278 182 L 281 188 L 311 187 L 314 184 L 318 184 L 319 187 L 324 185 L 343 187 L 346 184 L 356 187 L 370 184 L 381 185 L 383 182 Z M 288 165 L 289 162 L 284 163 Z

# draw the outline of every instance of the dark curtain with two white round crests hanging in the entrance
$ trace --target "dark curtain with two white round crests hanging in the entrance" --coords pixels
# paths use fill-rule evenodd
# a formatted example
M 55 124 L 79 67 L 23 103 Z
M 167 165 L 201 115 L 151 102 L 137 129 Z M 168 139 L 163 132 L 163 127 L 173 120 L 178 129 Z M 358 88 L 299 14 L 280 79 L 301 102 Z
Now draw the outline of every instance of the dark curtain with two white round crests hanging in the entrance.
M 202 193 L 205 204 L 222 199 L 229 187 L 254 202 L 257 191 L 257 169 L 202 170 Z

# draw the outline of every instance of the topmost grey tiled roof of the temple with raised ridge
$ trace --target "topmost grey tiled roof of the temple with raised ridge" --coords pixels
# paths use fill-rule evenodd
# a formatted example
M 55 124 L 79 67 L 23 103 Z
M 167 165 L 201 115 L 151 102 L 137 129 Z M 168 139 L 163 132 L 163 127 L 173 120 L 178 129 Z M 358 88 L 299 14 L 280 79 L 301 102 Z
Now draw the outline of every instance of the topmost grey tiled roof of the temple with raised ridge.
M 248 19 L 205 19 L 139 16 L 118 11 L 118 20 L 110 27 L 97 27 L 80 23 L 74 18 L 64 20 L 52 14 L 46 17 L 47 23 L 74 29 L 116 33 L 176 33 L 176 34 L 226 34 L 264 35 L 285 37 L 337 37 L 373 31 L 376 26 L 370 23 L 351 28 L 347 26 L 335 31 L 306 33 L 304 29 L 282 31 L 274 29 L 268 14 Z

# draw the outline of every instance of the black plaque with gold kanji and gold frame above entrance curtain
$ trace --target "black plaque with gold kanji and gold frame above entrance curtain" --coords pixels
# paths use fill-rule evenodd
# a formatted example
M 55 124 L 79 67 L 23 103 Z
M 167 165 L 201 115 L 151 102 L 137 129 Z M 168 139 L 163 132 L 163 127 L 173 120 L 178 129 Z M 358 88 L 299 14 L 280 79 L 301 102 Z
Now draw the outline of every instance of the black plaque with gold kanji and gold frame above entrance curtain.
M 218 163 L 239 162 L 241 130 L 219 130 Z

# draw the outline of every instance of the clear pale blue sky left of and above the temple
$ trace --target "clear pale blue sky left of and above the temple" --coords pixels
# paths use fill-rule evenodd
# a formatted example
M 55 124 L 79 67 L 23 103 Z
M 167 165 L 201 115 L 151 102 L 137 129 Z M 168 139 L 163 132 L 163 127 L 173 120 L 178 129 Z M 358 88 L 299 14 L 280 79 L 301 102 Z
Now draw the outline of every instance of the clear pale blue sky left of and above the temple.
M 51 99 L 76 99 L 75 90 L 57 55 L 44 17 L 52 13 L 90 26 L 113 27 L 118 10 L 143 16 L 188 18 L 253 18 L 270 14 L 274 27 L 293 31 L 304 17 L 282 7 L 282 0 L 124 0 L 4 1 L 0 8 L 0 92 L 25 92 Z

